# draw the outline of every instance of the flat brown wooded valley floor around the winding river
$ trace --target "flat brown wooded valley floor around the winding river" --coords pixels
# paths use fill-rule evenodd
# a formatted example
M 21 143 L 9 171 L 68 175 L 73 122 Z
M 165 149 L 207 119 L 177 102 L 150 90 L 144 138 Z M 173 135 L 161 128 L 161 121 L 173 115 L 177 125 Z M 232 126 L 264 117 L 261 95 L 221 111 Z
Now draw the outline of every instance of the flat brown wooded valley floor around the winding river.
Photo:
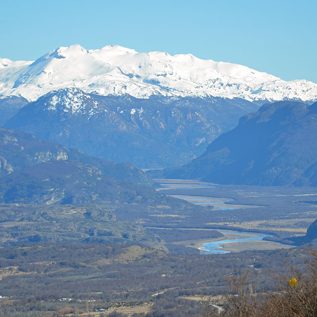
M 271 290 L 275 282 L 270 272 L 287 274 L 285 258 L 301 268 L 303 250 L 281 242 L 305 234 L 317 217 L 316 188 L 223 186 L 195 180 L 159 180 L 159 184 L 160 193 L 186 197 L 188 202 L 192 196 L 195 201 L 177 205 L 180 200 L 173 200 L 172 205 L 167 197 L 163 203 L 90 206 L 100 208 L 104 216 L 113 213 L 117 219 L 140 226 L 133 227 L 136 240 L 121 243 L 113 237 L 111 243 L 92 239 L 88 243 L 3 245 L 0 317 L 15 316 L 16 311 L 24 312 L 24 317 L 99 317 L 114 311 L 117 316 L 133 317 L 155 317 L 161 312 L 173 317 L 199 316 L 198 294 L 218 296 L 226 291 L 226 278 L 239 270 L 254 273 L 261 268 L 259 287 Z M 225 209 L 193 204 L 196 199 L 201 203 L 201 198 L 220 200 L 217 205 Z M 75 217 L 88 207 L 54 208 L 1 205 L 8 217 L 1 222 L 2 230 L 7 233 L 17 226 L 24 230 L 34 226 L 24 217 L 23 212 L 29 210 L 34 211 L 34 217 L 43 217 L 45 212 L 66 217 L 73 225 Z M 10 220 L 18 211 L 21 218 Z M 104 221 L 110 223 L 108 218 Z M 42 222 L 43 226 L 47 223 Z M 146 232 L 140 231 L 142 227 Z M 34 233 L 39 228 L 34 226 Z M 129 226 L 118 228 L 122 233 L 132 230 Z M 60 231 L 60 236 L 64 232 Z M 156 249 L 144 240 L 149 236 L 156 237 Z M 220 250 L 229 251 L 227 254 L 201 254 L 198 249 L 203 243 L 261 236 L 264 240 L 220 243 Z M 158 244 L 159 239 L 164 242 Z M 162 245 L 168 252 L 159 250 Z M 61 298 L 72 300 L 59 301 Z

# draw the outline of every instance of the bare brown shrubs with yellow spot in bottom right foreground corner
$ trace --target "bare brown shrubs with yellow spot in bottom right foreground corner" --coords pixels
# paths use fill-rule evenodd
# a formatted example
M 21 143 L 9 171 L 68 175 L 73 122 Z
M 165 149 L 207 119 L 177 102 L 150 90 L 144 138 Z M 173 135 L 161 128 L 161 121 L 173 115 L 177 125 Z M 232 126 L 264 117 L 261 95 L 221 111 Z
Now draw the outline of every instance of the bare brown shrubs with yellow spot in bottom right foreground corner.
M 290 274 L 274 276 L 276 289 L 259 292 L 259 270 L 228 278 L 230 292 L 225 295 L 223 310 L 204 300 L 202 317 L 313 317 L 317 314 L 317 250 L 308 250 L 305 271 L 289 266 Z

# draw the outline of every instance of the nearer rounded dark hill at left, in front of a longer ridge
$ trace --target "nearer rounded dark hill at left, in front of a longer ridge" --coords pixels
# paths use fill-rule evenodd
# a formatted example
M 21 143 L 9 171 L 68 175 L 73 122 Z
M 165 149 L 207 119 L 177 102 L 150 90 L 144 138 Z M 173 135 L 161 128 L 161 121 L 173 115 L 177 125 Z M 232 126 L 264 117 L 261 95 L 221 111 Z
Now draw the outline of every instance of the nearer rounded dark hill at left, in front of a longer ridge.
M 116 180 L 94 165 L 68 159 L 29 165 L 2 176 L 0 182 L 1 203 L 105 204 L 127 202 L 138 196 L 149 199 L 155 194 L 153 188 Z

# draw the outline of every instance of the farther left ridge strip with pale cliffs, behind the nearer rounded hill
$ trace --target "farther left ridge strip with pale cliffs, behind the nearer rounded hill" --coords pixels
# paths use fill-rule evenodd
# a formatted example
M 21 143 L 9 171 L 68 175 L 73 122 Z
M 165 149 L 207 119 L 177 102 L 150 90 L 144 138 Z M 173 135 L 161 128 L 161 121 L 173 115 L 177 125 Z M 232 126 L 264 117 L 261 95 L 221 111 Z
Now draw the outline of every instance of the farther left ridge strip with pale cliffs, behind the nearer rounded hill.
M 23 131 L 0 128 L 0 176 L 31 164 L 70 159 L 92 164 L 101 172 L 121 181 L 151 186 L 152 180 L 132 163 L 114 163 L 105 159 L 88 157 L 80 151 L 36 138 Z

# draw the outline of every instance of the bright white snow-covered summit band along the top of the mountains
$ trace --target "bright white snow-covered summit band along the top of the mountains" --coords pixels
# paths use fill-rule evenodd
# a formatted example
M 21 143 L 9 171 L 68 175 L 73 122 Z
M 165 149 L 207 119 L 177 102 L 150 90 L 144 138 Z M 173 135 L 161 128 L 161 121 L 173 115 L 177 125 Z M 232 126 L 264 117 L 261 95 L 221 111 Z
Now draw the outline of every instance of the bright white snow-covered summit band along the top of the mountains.
M 120 46 L 60 47 L 36 61 L 0 58 L 0 95 L 35 101 L 60 88 L 136 98 L 223 97 L 248 101 L 317 100 L 317 84 L 284 81 L 249 67 L 192 54 L 138 53 Z

